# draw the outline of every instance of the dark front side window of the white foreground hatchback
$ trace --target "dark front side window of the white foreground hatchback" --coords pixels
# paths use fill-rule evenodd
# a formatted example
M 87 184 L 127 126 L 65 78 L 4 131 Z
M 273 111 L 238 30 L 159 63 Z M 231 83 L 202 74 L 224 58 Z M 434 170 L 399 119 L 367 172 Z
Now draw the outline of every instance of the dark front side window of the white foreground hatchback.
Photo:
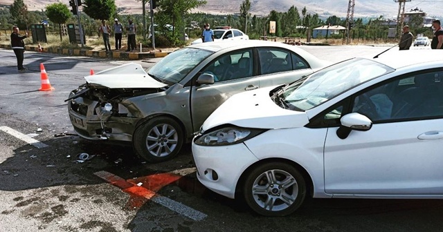
M 354 98 L 352 112 L 372 122 L 443 117 L 443 72 L 408 75 Z

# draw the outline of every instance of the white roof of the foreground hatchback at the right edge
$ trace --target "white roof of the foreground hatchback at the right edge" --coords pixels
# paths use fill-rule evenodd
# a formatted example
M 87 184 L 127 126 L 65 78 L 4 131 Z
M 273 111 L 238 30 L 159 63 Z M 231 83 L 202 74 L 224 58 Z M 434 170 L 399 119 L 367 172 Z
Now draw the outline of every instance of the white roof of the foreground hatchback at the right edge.
M 393 48 L 395 49 L 395 48 Z M 397 48 L 398 49 L 398 48 Z M 377 58 L 370 58 L 391 68 L 403 68 L 418 64 L 428 64 L 436 61 L 443 63 L 443 50 L 389 50 Z

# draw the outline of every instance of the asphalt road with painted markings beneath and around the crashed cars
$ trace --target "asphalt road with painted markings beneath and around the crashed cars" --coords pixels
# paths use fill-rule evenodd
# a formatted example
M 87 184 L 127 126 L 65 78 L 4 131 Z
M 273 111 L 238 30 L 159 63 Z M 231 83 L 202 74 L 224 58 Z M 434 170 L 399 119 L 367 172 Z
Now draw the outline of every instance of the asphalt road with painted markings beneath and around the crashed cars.
M 302 46 L 329 61 L 388 47 Z M 393 48 L 395 49 L 395 48 Z M 417 48 L 415 48 L 417 49 Z M 423 49 L 423 48 L 419 48 Z M 98 72 L 127 61 L 27 52 L 19 73 L 0 50 L 0 231 L 441 231 L 442 200 L 309 199 L 293 215 L 264 218 L 195 180 L 190 147 L 147 164 L 132 148 L 72 135 L 66 99 Z M 137 61 L 149 68 L 149 63 Z M 40 92 L 43 63 L 55 90 Z M 41 132 L 38 129 L 42 129 Z M 11 131 L 14 130 L 14 131 Z M 8 132 L 6 132 L 8 131 Z M 16 132 L 15 132 L 16 131 Z M 17 139 L 21 133 L 47 145 Z M 60 137 L 55 135 L 64 133 Z M 92 158 L 77 162 L 80 153 Z

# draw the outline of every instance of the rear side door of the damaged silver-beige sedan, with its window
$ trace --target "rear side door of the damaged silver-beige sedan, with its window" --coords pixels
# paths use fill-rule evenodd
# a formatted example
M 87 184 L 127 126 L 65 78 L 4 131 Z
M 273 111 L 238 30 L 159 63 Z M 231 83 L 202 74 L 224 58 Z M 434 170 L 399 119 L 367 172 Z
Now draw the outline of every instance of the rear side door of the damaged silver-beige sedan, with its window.
M 283 48 L 258 48 L 260 86 L 289 84 L 312 73 L 300 55 Z

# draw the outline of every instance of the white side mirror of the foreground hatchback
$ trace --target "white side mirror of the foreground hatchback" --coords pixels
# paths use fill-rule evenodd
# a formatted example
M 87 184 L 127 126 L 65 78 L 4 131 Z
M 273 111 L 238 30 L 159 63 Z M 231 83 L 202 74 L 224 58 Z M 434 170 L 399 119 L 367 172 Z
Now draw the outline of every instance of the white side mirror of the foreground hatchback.
M 359 113 L 350 113 L 340 119 L 341 126 L 337 130 L 337 136 L 341 139 L 347 138 L 352 130 L 369 131 L 372 127 L 372 121 L 365 115 Z

